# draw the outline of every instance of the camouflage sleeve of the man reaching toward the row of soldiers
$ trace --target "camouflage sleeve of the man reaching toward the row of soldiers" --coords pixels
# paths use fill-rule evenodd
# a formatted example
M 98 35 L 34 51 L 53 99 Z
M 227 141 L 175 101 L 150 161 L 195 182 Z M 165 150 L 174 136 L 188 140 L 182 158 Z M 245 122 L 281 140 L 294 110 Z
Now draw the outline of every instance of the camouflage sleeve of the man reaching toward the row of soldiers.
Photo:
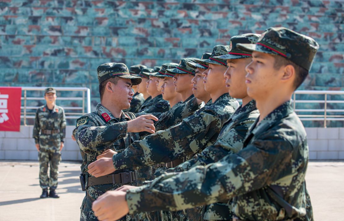
M 127 121 L 106 126 L 96 126 L 91 119 L 88 119 L 86 124 L 76 127 L 74 131 L 76 134 L 75 138 L 82 151 L 102 151 L 104 147 L 108 147 L 116 140 L 125 137 Z

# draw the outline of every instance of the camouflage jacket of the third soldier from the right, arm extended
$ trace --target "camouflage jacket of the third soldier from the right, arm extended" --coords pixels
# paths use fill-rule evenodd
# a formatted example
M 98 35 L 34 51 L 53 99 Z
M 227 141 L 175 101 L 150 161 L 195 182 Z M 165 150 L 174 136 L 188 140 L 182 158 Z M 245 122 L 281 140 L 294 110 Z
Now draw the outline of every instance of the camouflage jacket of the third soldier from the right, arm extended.
M 233 115 L 239 103 L 228 93 L 212 105 L 206 105 L 181 123 L 136 141 L 112 160 L 116 169 L 129 165 L 146 166 L 167 163 L 197 153 L 213 144 L 223 124 Z

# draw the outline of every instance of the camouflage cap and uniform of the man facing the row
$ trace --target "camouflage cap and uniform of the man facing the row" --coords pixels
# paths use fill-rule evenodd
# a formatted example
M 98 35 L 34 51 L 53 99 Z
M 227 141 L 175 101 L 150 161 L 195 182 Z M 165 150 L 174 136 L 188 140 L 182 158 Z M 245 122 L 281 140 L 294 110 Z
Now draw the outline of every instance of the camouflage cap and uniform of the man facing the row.
M 97 68 L 97 73 L 99 84 L 111 77 L 131 79 L 133 85 L 137 85 L 141 82 L 141 78 L 130 75 L 127 66 L 122 63 L 106 63 L 100 65 Z M 87 168 L 88 165 L 96 161 L 97 156 L 105 150 L 111 149 L 118 152 L 128 147 L 133 141 L 139 139 L 138 133 L 127 132 L 127 121 L 136 117 L 137 114 L 122 112 L 120 118 L 115 118 L 107 108 L 99 103 L 94 112 L 77 119 L 76 128 L 73 130 L 73 136 L 76 138 L 83 158 L 81 171 L 86 181 L 86 196 L 80 207 L 80 220 L 98 220 L 94 216 L 92 202 L 106 191 L 115 190 L 125 183 L 127 183 L 127 185 L 136 185 L 136 181 L 132 182 L 132 180 L 136 178 L 135 175 L 132 175 L 135 173 L 133 173 L 134 171 L 130 168 L 119 170 L 114 173 L 123 173 L 123 177 L 127 175 L 128 180 L 125 182 L 121 179 L 121 182 L 92 185 L 91 182 L 94 177 L 88 173 Z M 127 215 L 121 220 L 133 219 L 133 216 Z

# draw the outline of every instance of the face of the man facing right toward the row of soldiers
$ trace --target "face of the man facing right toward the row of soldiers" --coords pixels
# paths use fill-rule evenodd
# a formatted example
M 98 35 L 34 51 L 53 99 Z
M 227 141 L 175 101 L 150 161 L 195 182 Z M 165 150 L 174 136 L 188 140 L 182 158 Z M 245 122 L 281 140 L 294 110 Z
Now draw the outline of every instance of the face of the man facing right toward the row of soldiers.
M 111 83 L 111 100 L 122 110 L 130 107 L 132 96 L 134 95 L 131 86 L 131 80 L 125 78 L 119 78 L 117 84 Z

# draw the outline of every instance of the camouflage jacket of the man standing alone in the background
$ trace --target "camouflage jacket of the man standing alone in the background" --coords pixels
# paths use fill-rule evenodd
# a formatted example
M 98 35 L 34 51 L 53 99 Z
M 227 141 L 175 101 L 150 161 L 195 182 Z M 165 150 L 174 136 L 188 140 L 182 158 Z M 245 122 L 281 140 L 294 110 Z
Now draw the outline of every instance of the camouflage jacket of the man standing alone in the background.
M 41 130 L 59 130 L 59 132 L 43 134 Z M 55 105 L 50 113 L 46 105 L 39 107 L 36 111 L 32 137 L 42 148 L 60 148 L 60 142 L 66 137 L 66 116 L 63 108 Z

